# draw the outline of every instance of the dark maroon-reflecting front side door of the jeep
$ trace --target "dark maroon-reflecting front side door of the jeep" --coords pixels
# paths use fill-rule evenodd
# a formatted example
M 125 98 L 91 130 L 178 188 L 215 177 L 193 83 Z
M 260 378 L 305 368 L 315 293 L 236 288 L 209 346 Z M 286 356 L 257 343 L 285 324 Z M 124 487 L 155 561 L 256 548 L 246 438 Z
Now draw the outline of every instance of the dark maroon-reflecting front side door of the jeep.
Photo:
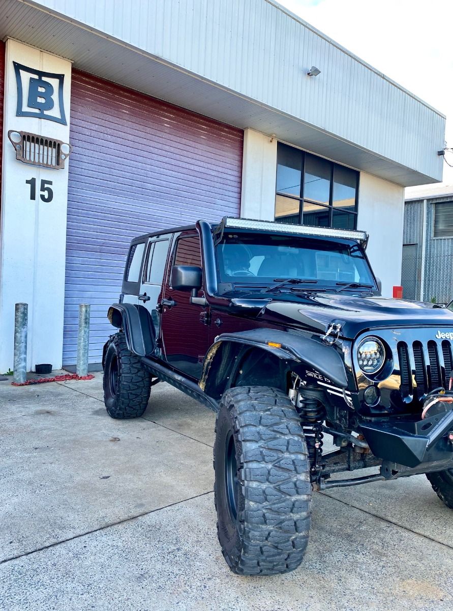
M 161 340 L 169 364 L 200 379 L 203 359 L 209 348 L 209 309 L 192 305 L 189 291 L 176 291 L 171 287 L 173 265 L 201 267 L 200 237 L 195 230 L 179 234 L 173 246 L 161 301 Z M 203 294 L 202 289 L 198 291 L 198 295 Z

